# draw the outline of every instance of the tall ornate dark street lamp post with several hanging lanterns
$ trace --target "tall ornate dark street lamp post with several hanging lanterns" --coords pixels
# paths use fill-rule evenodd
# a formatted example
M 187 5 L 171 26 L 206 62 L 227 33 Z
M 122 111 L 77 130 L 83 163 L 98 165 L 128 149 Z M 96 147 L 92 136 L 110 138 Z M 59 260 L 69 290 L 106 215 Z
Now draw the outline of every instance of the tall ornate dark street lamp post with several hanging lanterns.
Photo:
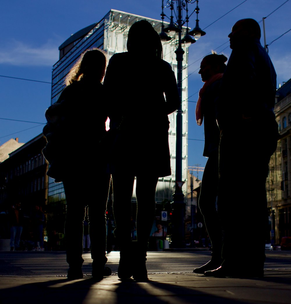
M 193 11 L 196 12 L 196 26 L 195 28 L 189 32 L 188 29 L 188 4 L 192 4 L 196 2 L 196 8 Z M 176 22 L 174 22 L 173 10 L 176 6 L 176 14 L 177 17 Z M 164 26 L 164 8 L 171 9 L 170 16 L 170 24 L 168 26 Z M 183 19 L 183 12 L 186 12 L 186 17 Z M 192 13 L 192 14 L 193 14 Z M 176 60 L 177 60 L 177 85 L 180 95 L 180 106 L 177 109 L 176 115 L 176 184 L 175 184 L 175 192 L 173 194 L 173 220 L 172 220 L 172 247 L 175 248 L 183 248 L 185 247 L 185 225 L 184 225 L 184 216 L 185 216 L 185 203 L 184 203 L 184 194 L 182 192 L 182 63 L 183 63 L 183 54 L 184 50 L 182 48 L 182 43 L 184 43 L 185 47 L 189 47 L 192 43 L 195 43 L 201 36 L 204 36 L 206 33 L 203 32 L 199 27 L 198 20 L 198 0 L 168 0 L 166 6 L 164 6 L 164 1 L 162 0 L 162 27 L 160 38 L 162 43 L 166 43 L 166 41 L 175 39 L 176 33 L 178 33 L 178 46 L 175 50 Z M 191 15 L 192 15 L 191 14 Z M 190 16 L 191 16 L 190 15 Z M 182 29 L 183 25 L 187 24 L 186 34 L 182 38 Z M 193 38 L 190 36 L 194 36 Z

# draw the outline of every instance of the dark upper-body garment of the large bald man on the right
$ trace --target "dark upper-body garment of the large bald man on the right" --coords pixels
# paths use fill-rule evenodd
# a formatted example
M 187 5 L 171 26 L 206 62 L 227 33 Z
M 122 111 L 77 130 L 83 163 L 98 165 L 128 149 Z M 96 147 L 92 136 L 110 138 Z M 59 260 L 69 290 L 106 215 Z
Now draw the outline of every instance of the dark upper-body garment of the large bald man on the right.
M 269 55 L 258 39 L 242 41 L 232 50 L 221 82 L 220 130 L 235 131 L 245 124 L 260 129 L 274 123 L 275 93 L 276 72 Z

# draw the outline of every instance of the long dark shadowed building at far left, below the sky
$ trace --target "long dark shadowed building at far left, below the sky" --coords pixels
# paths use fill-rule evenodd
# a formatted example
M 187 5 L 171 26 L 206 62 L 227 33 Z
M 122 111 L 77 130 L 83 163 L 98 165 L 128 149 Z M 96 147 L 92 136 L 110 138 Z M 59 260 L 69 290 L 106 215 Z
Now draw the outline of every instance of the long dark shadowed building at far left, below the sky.
M 25 215 L 25 227 L 22 237 L 32 238 L 31 215 L 35 206 L 46 211 L 48 190 L 48 162 L 42 149 L 46 144 L 40 134 L 9 153 L 9 158 L 0 163 L 0 239 L 9 239 L 9 221 L 7 211 L 16 201 L 21 202 Z

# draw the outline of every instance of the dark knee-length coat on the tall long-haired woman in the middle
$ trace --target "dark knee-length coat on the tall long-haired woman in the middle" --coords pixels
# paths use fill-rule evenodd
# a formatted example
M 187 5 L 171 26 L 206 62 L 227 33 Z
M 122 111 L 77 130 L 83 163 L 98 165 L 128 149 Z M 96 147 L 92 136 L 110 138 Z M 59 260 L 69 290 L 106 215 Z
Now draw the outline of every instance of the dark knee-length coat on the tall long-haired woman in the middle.
M 175 74 L 161 59 L 141 59 L 129 52 L 111 57 L 104 78 L 110 128 L 118 129 L 113 170 L 135 176 L 171 174 L 168 114 L 180 105 Z M 164 93 L 166 100 L 164 98 Z

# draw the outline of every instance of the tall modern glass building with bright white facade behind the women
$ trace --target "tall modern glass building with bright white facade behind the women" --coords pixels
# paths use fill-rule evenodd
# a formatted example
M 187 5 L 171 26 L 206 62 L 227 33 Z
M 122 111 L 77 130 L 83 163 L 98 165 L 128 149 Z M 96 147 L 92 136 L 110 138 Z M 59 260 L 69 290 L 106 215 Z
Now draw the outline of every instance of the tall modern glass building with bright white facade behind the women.
M 60 96 L 61 91 L 65 87 L 64 79 L 70 68 L 74 65 L 80 54 L 89 48 L 98 47 L 107 52 L 110 58 L 115 53 L 126 52 L 127 35 L 130 26 L 139 20 L 145 19 L 149 21 L 154 29 L 160 33 L 162 22 L 143 16 L 129 14 L 111 9 L 99 22 L 81 29 L 77 33 L 68 38 L 60 47 L 60 59 L 53 65 L 52 72 L 52 94 L 51 103 L 55 103 Z M 182 33 L 182 36 L 184 33 Z M 173 38 L 163 45 L 163 59 L 171 64 L 175 74 L 177 74 L 177 61 L 175 50 L 177 40 Z M 187 165 L 188 165 L 188 49 L 184 48 L 185 54 L 183 59 L 183 82 L 182 82 L 182 109 L 183 109 L 183 140 L 182 140 L 182 179 L 185 182 L 183 185 L 183 193 L 186 202 L 187 189 Z M 118 77 L 118 76 L 117 76 Z M 122 77 L 122 71 L 120 71 Z M 159 81 L 159 80 L 157 80 Z M 169 115 L 169 148 L 171 155 L 172 175 L 164 178 L 159 178 L 156 188 L 156 203 L 172 201 L 172 194 L 175 190 L 175 167 L 176 167 L 176 112 Z M 148 122 L 151 123 L 150 121 Z M 81 139 L 80 139 L 81 140 Z M 84 151 L 85 152 L 85 151 Z M 85 155 L 85 153 L 83 153 Z M 57 202 L 65 200 L 62 183 L 55 184 L 53 179 L 49 180 L 48 202 Z M 135 193 L 132 197 L 132 202 L 135 202 Z

